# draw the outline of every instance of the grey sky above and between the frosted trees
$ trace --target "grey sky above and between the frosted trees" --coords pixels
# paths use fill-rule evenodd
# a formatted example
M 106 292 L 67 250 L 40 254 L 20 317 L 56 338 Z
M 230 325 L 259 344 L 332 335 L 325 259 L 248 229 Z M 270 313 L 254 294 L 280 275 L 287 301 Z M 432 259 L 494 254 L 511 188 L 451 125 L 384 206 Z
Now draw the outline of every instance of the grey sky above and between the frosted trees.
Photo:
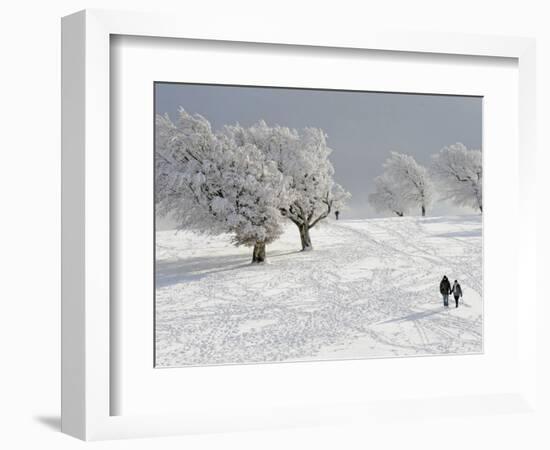
M 214 129 L 228 123 L 322 128 L 333 149 L 335 178 L 353 195 L 346 218 L 380 217 L 368 204 L 373 179 L 392 150 L 427 165 L 443 146 L 481 149 L 480 97 L 304 90 L 196 84 L 156 84 L 156 112 L 179 107 L 206 117 Z M 435 203 L 430 215 L 473 213 Z

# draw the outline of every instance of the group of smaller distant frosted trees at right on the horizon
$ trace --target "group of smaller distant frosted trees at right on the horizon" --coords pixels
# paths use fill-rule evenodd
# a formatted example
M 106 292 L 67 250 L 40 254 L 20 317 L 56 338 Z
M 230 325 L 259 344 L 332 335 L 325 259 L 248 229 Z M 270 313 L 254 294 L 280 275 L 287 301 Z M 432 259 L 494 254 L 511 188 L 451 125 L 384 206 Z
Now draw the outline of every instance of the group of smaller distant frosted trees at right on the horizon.
M 425 216 L 437 186 L 439 198 L 483 212 L 479 150 L 468 150 L 461 143 L 444 147 L 432 156 L 429 168 L 412 156 L 392 152 L 383 166 L 384 173 L 374 180 L 375 192 L 369 195 L 377 211 L 403 216 L 417 209 Z

